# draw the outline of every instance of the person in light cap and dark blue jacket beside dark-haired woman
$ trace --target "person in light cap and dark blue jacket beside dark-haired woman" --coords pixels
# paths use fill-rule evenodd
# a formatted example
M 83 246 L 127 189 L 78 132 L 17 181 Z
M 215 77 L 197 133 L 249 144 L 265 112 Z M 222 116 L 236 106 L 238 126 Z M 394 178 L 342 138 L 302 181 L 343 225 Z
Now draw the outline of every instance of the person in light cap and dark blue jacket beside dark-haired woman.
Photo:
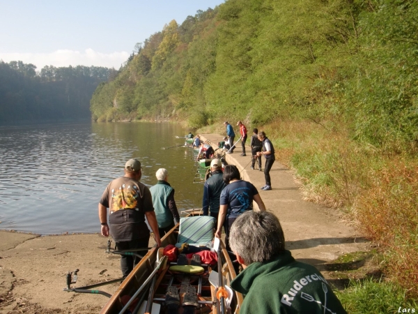
M 222 172 L 222 162 L 215 158 L 210 163 L 210 178 L 206 180 L 203 186 L 203 216 L 212 216 L 217 225 L 217 216 L 219 214 L 219 197 L 226 186 Z M 209 213 L 210 210 L 210 213 Z

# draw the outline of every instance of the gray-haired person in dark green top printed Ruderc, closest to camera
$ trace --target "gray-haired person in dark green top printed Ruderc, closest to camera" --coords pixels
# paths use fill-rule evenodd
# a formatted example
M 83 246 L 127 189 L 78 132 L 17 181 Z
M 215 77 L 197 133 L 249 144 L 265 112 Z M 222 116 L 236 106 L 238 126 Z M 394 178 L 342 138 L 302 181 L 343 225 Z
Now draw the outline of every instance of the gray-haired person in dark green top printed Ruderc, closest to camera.
M 247 211 L 235 220 L 229 245 L 244 269 L 231 282 L 245 294 L 240 314 L 346 313 L 315 267 L 297 262 L 284 248 L 279 219 Z

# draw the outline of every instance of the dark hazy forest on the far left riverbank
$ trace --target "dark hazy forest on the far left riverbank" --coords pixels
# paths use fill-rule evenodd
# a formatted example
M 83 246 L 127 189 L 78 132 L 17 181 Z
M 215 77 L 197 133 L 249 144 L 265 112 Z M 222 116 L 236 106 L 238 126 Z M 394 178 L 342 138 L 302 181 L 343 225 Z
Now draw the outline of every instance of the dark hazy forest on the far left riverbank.
M 90 119 L 90 100 L 112 71 L 97 66 L 36 66 L 0 61 L 0 125 Z

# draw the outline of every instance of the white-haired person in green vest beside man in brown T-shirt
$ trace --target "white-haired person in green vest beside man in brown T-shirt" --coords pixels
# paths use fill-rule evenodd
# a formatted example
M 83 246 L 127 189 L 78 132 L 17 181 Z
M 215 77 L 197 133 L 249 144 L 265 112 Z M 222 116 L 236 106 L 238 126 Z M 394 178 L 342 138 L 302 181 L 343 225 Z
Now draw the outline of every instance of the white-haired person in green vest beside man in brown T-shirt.
M 158 232 L 160 232 L 160 237 L 164 237 L 164 234 L 180 221 L 180 215 L 174 200 L 174 189 L 168 182 L 169 172 L 167 169 L 160 168 L 155 173 L 155 177 L 158 181 L 155 186 L 150 187 L 150 192 L 153 197 Z

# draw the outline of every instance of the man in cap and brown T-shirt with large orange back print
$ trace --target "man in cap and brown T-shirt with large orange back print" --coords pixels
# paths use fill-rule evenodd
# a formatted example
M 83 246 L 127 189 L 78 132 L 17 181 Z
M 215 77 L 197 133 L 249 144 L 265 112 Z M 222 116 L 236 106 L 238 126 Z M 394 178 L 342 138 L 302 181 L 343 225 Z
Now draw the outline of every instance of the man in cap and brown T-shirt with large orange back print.
M 116 248 L 121 251 L 134 251 L 138 248 L 144 248 L 144 253 L 148 251 L 150 231 L 145 223 L 145 217 L 154 232 L 157 246 L 161 245 L 153 198 L 150 190 L 139 182 L 141 175 L 139 160 L 127 160 L 125 175 L 114 179 L 107 185 L 99 202 L 101 233 L 104 237 L 108 237 L 110 232 L 116 241 Z M 108 208 L 109 223 L 107 222 Z M 139 257 L 121 255 L 123 276 L 130 274 L 138 262 Z

